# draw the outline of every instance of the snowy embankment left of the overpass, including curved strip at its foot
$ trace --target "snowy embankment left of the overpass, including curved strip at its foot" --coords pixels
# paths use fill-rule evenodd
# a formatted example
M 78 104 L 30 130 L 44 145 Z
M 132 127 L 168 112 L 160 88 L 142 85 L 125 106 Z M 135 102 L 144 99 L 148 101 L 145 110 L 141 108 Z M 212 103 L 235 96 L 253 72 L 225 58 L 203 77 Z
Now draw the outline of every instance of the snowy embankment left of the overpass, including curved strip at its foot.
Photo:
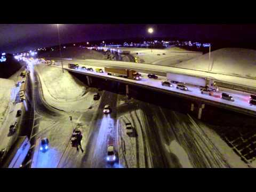
M 85 85 L 68 71 L 37 65 L 43 97 L 52 107 L 64 111 L 85 111 L 92 105 L 91 98 L 86 92 Z M 89 96 L 89 97 L 88 97 Z

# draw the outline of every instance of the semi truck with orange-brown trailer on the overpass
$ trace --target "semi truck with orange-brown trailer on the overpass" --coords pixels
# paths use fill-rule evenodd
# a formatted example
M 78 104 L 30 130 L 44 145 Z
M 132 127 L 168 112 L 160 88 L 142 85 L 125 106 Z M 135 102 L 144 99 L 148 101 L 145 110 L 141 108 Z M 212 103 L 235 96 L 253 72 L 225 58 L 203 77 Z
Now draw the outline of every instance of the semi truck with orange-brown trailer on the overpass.
M 136 80 L 136 81 L 140 80 L 140 74 L 135 70 L 118 69 L 118 68 L 105 68 L 105 72 L 108 75 L 129 78 L 129 79 L 133 79 L 133 80 Z

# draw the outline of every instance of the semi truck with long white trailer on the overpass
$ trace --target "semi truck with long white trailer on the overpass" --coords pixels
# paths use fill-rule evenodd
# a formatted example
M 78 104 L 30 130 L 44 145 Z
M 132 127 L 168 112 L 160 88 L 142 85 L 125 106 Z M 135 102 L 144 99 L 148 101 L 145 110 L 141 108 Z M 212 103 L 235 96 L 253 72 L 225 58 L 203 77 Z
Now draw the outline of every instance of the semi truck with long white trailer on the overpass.
M 217 92 L 219 91 L 219 88 L 213 79 L 208 79 L 204 77 L 194 77 L 194 76 L 175 74 L 175 73 L 167 73 L 166 77 L 168 81 L 187 83 L 191 85 L 197 85 L 200 87 L 207 87 L 209 89 L 212 89 L 213 91 L 217 91 Z

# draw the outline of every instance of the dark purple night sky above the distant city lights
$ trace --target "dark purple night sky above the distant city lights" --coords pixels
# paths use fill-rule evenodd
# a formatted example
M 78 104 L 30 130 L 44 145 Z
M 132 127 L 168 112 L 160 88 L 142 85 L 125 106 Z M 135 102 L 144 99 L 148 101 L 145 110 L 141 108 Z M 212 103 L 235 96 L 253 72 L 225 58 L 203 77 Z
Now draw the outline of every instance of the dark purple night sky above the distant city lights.
M 185 39 L 219 39 L 233 42 L 255 42 L 256 25 L 71 25 L 59 26 L 61 43 L 149 37 L 147 28 L 153 27 L 153 37 Z M 54 24 L 0 25 L 0 52 L 19 52 L 58 44 Z M 108 43 L 106 41 L 106 43 Z

